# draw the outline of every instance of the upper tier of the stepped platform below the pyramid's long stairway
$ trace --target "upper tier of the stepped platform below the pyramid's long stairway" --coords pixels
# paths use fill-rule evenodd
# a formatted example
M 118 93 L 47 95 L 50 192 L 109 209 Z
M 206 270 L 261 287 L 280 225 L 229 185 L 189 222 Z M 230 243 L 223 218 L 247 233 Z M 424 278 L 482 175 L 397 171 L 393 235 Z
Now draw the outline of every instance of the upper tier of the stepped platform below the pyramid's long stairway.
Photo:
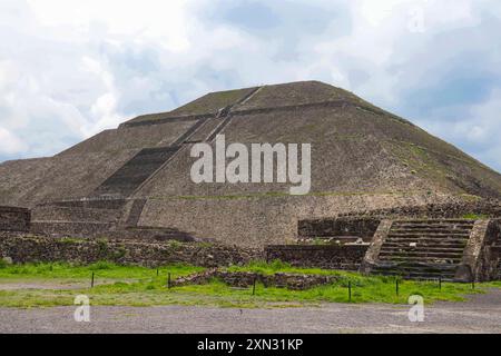
M 120 218 L 120 214 L 119 209 L 38 206 L 31 210 L 31 219 L 32 221 L 115 222 Z

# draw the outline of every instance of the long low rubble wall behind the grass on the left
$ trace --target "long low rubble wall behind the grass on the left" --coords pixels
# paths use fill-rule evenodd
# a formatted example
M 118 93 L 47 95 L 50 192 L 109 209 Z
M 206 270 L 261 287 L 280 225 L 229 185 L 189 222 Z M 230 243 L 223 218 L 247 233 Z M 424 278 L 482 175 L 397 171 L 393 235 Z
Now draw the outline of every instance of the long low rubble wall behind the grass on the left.
M 148 267 L 176 263 L 217 267 L 263 259 L 263 253 L 212 244 L 89 240 L 0 233 L 0 258 L 2 257 L 10 257 L 16 264 L 38 261 L 91 264 L 109 260 Z

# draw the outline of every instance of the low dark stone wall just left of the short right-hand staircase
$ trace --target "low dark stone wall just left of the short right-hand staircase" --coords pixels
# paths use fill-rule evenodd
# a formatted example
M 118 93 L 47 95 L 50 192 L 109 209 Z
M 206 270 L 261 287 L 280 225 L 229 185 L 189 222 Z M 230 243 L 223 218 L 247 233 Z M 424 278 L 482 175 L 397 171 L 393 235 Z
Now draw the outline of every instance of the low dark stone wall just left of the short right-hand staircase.
M 266 260 L 292 266 L 358 270 L 369 245 L 282 245 L 265 248 Z

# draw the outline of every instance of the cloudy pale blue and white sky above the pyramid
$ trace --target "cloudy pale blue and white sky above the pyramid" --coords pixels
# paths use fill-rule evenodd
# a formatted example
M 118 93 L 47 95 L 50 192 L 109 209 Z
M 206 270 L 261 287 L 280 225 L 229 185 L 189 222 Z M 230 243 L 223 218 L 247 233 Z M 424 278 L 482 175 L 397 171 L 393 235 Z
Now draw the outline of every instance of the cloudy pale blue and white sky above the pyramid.
M 501 171 L 499 0 L 0 0 L 0 161 L 207 91 L 322 80 Z

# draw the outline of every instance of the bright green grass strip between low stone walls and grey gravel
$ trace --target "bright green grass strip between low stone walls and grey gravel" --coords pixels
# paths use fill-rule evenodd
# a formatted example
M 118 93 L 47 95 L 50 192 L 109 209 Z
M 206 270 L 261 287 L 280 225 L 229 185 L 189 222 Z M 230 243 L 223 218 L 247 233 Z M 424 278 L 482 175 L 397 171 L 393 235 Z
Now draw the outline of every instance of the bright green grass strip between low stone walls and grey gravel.
M 265 288 L 258 284 L 255 295 L 252 294 L 252 288 L 236 289 L 218 280 L 212 280 L 202 286 L 183 286 L 171 289 L 166 287 L 168 273 L 171 274 L 171 278 L 177 278 L 203 269 L 186 265 L 164 266 L 158 269 L 157 276 L 156 268 L 118 266 L 105 261 L 89 266 L 68 264 L 2 266 L 0 267 L 0 306 L 68 306 L 73 304 L 75 296 L 81 294 L 89 296 L 92 305 L 115 306 L 176 304 L 253 308 L 314 306 L 323 303 L 406 304 L 411 295 L 421 295 L 425 303 L 430 304 L 438 300 L 461 301 L 468 295 L 501 287 L 500 283 L 478 284 L 475 289 L 471 285 L 443 283 L 440 288 L 436 281 L 401 280 L 397 295 L 393 277 L 366 277 L 356 273 L 293 268 L 278 261 L 254 263 L 228 269 L 263 274 L 277 271 L 328 274 L 336 275 L 338 281 L 302 291 Z M 90 288 L 92 273 L 96 285 Z M 352 286 L 351 300 L 348 283 Z M 36 287 L 27 288 L 27 284 L 35 284 Z M 42 287 L 37 287 L 37 284 L 41 284 Z

